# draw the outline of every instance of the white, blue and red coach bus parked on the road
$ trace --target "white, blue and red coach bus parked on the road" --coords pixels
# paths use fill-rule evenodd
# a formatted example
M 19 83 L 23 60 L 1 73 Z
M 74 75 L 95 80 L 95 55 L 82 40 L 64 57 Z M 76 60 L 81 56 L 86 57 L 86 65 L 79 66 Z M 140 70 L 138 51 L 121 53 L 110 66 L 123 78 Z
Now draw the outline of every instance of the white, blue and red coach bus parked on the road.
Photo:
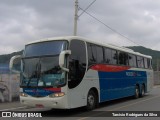
M 10 69 L 20 72 L 24 105 L 94 109 L 101 102 L 144 96 L 152 87 L 151 64 L 151 56 L 69 36 L 25 45 L 22 56 L 11 58 Z

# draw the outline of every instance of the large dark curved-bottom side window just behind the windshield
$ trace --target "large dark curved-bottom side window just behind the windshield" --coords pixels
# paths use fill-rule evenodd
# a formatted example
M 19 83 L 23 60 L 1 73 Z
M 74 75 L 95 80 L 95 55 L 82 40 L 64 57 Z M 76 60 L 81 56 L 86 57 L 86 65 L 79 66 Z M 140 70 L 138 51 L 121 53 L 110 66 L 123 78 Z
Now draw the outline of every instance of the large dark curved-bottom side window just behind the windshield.
M 86 47 L 80 40 L 72 40 L 69 57 L 69 88 L 75 88 L 82 81 L 86 71 Z

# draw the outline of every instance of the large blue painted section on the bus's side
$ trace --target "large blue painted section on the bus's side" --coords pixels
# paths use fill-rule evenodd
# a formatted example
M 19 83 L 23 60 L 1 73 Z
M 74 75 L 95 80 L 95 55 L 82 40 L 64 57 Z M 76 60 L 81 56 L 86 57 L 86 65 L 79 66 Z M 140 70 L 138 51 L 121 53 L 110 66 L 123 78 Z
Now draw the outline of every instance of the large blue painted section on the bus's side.
M 145 71 L 125 70 L 120 72 L 98 72 L 100 82 L 100 102 L 132 96 L 135 85 L 147 83 Z

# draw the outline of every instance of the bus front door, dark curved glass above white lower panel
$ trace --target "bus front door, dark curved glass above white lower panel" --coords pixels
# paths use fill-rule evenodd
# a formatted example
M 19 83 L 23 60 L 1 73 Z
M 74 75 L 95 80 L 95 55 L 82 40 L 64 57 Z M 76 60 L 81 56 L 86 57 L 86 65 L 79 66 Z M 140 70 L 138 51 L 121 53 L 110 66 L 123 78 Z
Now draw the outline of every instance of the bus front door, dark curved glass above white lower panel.
M 68 74 L 68 101 L 71 108 L 85 104 L 83 78 L 86 72 L 86 46 L 83 41 L 72 40 L 70 44 Z

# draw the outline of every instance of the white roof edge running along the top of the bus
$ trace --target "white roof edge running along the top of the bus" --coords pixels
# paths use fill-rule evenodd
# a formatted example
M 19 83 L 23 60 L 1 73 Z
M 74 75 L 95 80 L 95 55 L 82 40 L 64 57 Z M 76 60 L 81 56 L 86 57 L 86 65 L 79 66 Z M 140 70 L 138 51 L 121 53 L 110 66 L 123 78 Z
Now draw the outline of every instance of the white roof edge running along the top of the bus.
M 104 46 L 104 47 L 107 47 L 107 48 L 111 48 L 111 49 L 115 49 L 115 50 L 119 50 L 119 51 L 123 51 L 123 52 L 127 52 L 127 53 L 131 53 L 131 54 L 135 54 L 135 55 L 139 55 L 139 56 L 142 56 L 142 57 L 147 57 L 147 58 L 152 58 L 151 56 L 149 55 L 144 55 L 144 54 L 141 54 L 139 52 L 135 52 L 129 48 L 126 48 L 126 47 L 121 47 L 121 46 L 117 46 L 117 45 L 114 45 L 114 44 L 110 44 L 110 43 L 101 43 L 101 42 L 96 42 L 96 40 L 91 40 L 91 39 L 86 39 L 86 38 L 83 38 L 83 37 L 79 37 L 79 36 L 64 36 L 64 37 L 53 37 L 53 38 L 45 38 L 45 39 L 40 39 L 40 40 L 37 40 L 37 41 L 33 41 L 33 42 L 30 42 L 26 45 L 29 45 L 29 44 L 34 44 L 34 43 L 39 43 L 39 42 L 47 42 L 47 41 L 53 41 L 53 40 L 67 40 L 67 41 L 71 41 L 71 40 L 82 40 L 82 41 L 85 41 L 85 42 L 89 42 L 89 43 L 93 43 L 93 44 L 96 44 L 96 45 L 100 45 L 100 46 Z

